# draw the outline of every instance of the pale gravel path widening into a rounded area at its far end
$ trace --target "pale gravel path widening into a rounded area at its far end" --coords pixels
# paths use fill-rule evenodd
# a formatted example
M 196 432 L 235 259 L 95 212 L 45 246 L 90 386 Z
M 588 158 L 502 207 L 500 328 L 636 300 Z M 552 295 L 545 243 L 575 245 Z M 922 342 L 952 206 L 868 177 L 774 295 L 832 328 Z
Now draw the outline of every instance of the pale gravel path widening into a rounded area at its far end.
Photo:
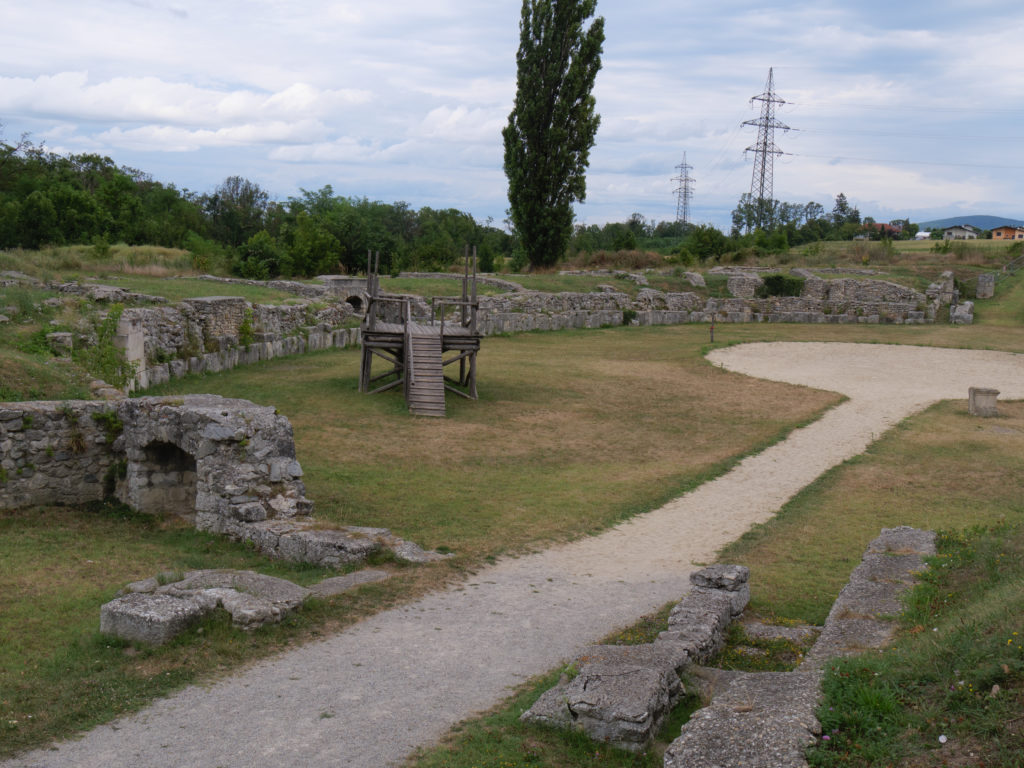
M 236 677 L 193 686 L 12 768 L 379 766 L 612 629 L 677 600 L 694 563 L 886 429 L 970 386 L 1024 398 L 1024 355 L 876 344 L 719 349 L 715 365 L 850 400 L 717 480 L 599 537 L 479 571 Z

